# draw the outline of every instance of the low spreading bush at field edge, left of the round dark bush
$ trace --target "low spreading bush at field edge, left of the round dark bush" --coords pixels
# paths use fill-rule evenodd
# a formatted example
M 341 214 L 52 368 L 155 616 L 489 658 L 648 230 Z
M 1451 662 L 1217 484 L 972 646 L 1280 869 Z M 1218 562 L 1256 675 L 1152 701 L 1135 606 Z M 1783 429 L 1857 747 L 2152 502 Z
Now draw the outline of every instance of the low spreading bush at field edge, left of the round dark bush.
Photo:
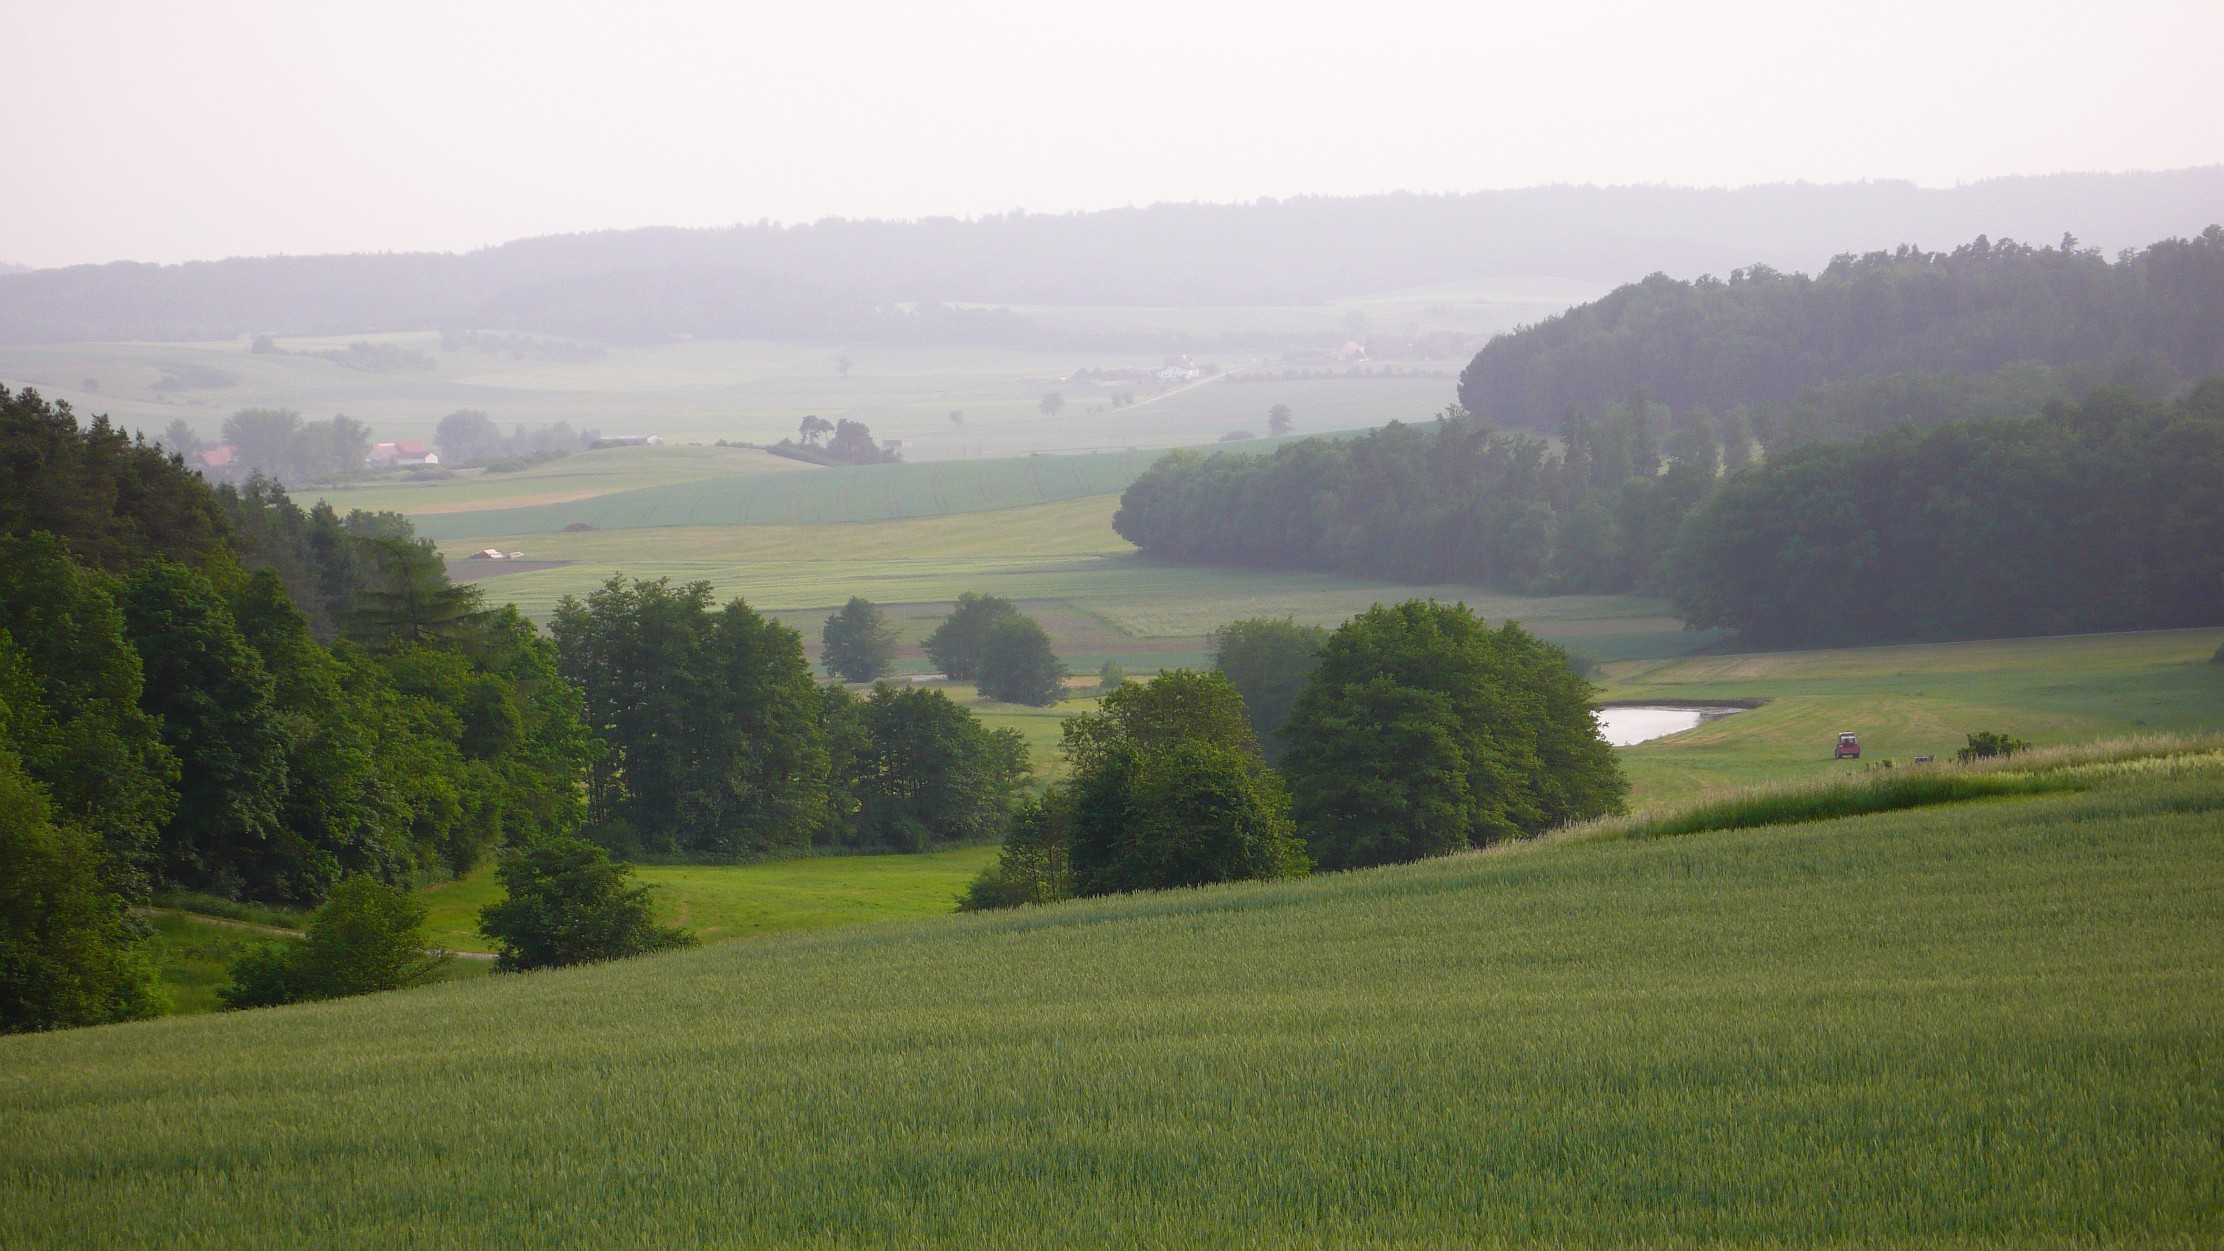
M 271 1008 L 420 986 L 445 957 L 425 950 L 425 904 L 358 873 L 331 888 L 302 942 L 254 948 L 218 991 L 227 1008 Z

